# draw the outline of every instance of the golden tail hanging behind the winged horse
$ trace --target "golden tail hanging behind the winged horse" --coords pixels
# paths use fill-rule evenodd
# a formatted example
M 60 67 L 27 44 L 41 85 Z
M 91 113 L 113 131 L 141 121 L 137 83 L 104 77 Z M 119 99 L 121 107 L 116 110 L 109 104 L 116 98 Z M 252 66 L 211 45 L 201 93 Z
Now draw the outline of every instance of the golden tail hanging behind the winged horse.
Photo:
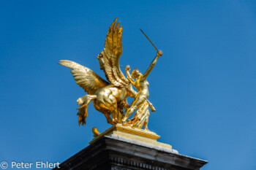
M 91 100 L 96 99 L 96 95 L 85 95 L 78 98 L 77 102 L 80 104 L 78 108 L 78 124 L 82 123 L 82 125 L 86 124 L 86 117 L 88 116 L 87 108 Z

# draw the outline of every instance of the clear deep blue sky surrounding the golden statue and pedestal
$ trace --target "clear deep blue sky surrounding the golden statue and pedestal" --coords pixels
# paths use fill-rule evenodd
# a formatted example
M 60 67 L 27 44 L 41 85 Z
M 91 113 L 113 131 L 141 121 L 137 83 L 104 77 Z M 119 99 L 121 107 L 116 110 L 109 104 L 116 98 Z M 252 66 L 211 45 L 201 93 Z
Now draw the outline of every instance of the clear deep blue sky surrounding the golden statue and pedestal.
M 65 161 L 110 125 L 85 95 L 68 59 L 104 77 L 96 59 L 108 27 L 123 29 L 121 65 L 148 76 L 149 129 L 203 170 L 256 169 L 255 1 L 1 1 L 0 161 Z

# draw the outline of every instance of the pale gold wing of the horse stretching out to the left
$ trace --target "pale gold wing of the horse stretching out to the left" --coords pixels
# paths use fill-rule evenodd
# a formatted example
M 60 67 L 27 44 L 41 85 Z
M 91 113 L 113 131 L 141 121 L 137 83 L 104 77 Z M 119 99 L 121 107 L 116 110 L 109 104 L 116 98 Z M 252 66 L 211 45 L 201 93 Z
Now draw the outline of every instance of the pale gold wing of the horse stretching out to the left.
M 77 84 L 89 94 L 94 94 L 99 88 L 109 85 L 109 82 L 103 80 L 97 73 L 85 66 L 81 66 L 79 63 L 61 60 L 59 61 L 59 64 L 72 69 L 71 73 L 73 74 Z

